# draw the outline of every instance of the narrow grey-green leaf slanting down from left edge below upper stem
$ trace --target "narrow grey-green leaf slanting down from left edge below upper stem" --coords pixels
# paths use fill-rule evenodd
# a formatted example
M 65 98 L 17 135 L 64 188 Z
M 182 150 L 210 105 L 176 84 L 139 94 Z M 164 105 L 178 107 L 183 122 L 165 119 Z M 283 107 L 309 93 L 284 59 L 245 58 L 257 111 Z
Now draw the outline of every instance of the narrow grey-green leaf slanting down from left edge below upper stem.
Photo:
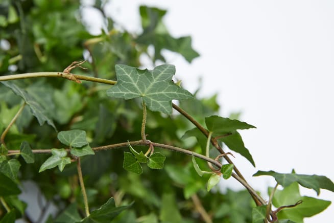
M 31 95 L 29 95 L 26 90 L 21 89 L 16 84 L 9 81 L 1 83 L 11 88 L 11 90 L 16 95 L 20 96 L 27 103 L 27 105 L 30 107 L 31 113 L 37 118 L 40 125 L 43 125 L 44 122 L 46 122 L 47 124 L 51 125 L 55 130 L 57 130 L 52 119 L 48 116 L 47 111 Z

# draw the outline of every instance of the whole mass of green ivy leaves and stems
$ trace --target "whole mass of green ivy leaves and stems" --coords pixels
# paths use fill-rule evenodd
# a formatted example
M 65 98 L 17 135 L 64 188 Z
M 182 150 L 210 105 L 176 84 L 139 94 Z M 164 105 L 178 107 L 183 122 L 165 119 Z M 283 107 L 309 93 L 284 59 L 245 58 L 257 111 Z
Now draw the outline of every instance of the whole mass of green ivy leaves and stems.
M 267 205 L 224 152 L 255 166 L 237 131 L 255 126 L 217 116 L 216 96 L 184 90 L 174 65 L 138 69 L 143 54 L 165 62 L 162 49 L 191 62 L 191 38 L 171 36 L 166 11 L 146 6 L 142 33 L 129 33 L 102 2 L 92 6 L 104 16 L 98 36 L 77 1 L 0 4 L 0 222 L 302 222 L 330 205 L 299 194 L 299 185 L 334 191 L 325 176 L 258 171 L 284 188 L 269 188 Z M 231 176 L 247 190 L 221 193 Z M 22 182 L 38 186 L 52 215 L 27 211 Z

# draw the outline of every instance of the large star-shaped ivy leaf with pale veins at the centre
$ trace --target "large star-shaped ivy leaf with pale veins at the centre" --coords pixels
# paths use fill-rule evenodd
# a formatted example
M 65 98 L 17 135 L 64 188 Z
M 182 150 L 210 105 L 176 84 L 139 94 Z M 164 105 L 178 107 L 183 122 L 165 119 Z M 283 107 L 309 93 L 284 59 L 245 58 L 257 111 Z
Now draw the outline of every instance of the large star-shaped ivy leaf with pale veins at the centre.
M 172 114 L 173 99 L 189 99 L 193 95 L 172 82 L 175 66 L 163 64 L 154 70 L 115 65 L 117 84 L 107 91 L 114 98 L 142 98 L 149 109 Z

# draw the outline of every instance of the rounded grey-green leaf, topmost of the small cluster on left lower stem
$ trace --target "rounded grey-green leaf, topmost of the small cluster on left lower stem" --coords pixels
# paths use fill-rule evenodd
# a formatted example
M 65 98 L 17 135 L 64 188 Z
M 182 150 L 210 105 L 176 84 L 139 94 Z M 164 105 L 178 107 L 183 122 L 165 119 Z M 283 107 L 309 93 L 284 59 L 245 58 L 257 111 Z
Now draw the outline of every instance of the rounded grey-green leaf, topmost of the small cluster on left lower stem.
M 61 143 L 70 147 L 82 147 L 88 144 L 86 132 L 79 129 L 60 131 L 57 138 Z

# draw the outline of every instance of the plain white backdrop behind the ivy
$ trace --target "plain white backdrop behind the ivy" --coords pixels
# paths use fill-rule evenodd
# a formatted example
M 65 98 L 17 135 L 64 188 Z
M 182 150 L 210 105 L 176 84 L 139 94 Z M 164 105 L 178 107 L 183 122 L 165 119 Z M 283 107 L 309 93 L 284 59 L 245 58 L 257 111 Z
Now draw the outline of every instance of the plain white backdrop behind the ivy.
M 266 199 L 275 181 L 252 177 L 257 170 L 295 168 L 334 179 L 333 1 L 113 0 L 105 12 L 140 33 L 140 5 L 168 10 L 164 23 L 170 33 L 193 37 L 201 56 L 191 64 L 164 51 L 183 87 L 194 92 L 202 77 L 201 97 L 218 93 L 222 116 L 241 111 L 241 119 L 257 127 L 241 132 L 256 168 L 235 153 L 233 162 Z M 100 33 L 98 12 L 83 12 L 90 14 L 91 31 Z M 221 182 L 226 187 L 242 189 L 233 179 Z M 301 193 L 316 196 L 309 189 Z M 321 190 L 319 198 L 333 201 L 334 193 Z M 333 213 L 331 205 L 304 222 L 330 222 Z

